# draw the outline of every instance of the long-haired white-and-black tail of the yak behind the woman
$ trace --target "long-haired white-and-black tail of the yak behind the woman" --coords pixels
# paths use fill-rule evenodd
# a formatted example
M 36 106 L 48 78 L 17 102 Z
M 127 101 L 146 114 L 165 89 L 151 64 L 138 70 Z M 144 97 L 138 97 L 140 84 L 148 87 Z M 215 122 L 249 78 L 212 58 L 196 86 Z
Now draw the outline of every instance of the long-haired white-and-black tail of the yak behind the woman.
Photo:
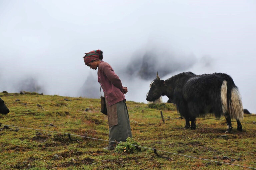
M 241 95 L 231 77 L 222 83 L 221 101 L 223 114 L 229 113 L 231 119 L 239 121 L 243 119 L 244 113 Z

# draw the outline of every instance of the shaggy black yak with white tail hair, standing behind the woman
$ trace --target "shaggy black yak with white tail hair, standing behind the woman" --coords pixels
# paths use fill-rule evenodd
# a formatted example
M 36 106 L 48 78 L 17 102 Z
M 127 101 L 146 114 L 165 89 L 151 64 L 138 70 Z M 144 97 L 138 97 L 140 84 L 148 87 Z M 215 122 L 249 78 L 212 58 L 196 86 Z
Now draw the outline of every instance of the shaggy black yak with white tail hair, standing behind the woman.
M 167 80 L 157 78 L 150 84 L 147 101 L 167 96 L 186 120 L 185 128 L 195 129 L 195 118 L 213 114 L 226 117 L 231 132 L 231 119 L 236 119 L 237 130 L 242 131 L 243 106 L 238 88 L 233 79 L 224 73 L 196 75 L 183 72 Z M 191 121 L 191 125 L 190 122 Z

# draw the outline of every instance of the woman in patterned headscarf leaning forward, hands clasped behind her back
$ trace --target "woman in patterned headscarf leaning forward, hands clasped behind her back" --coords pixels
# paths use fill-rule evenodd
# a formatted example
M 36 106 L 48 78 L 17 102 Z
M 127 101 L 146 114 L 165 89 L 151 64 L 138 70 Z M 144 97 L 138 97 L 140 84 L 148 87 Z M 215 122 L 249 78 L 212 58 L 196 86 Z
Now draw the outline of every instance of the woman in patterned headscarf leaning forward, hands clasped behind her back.
M 127 87 L 122 86 L 122 82 L 113 68 L 107 62 L 102 61 L 102 53 L 101 50 L 85 53 L 84 63 L 91 69 L 96 70 L 98 68 L 98 82 L 103 89 L 107 106 L 109 140 L 125 141 L 127 137 L 132 137 L 124 97 L 128 90 Z M 115 144 L 116 142 L 109 142 L 109 145 L 104 149 L 112 150 L 115 148 Z

